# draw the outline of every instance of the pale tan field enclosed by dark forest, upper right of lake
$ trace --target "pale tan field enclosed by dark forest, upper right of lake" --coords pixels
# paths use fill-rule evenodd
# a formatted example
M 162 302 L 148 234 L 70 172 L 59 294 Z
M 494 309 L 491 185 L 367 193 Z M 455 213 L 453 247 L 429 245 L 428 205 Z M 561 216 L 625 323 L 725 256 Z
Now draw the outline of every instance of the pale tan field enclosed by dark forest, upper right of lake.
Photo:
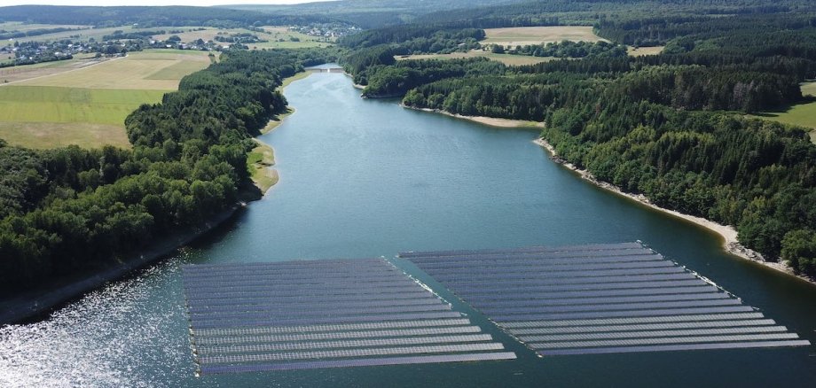
M 528 45 L 541 43 L 557 43 L 561 41 L 605 41 L 592 32 L 589 26 L 552 26 L 552 27 L 506 27 L 485 28 L 487 39 L 482 43 L 501 45 Z

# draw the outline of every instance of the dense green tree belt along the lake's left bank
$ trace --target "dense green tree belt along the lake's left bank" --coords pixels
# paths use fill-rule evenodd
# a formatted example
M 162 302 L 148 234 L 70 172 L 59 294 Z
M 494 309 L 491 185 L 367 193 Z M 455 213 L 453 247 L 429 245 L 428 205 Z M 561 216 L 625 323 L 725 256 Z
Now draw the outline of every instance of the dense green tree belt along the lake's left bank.
M 231 51 L 126 127 L 132 150 L 33 151 L 0 142 L 0 288 L 113 265 L 233 206 L 251 136 L 286 109 L 276 88 L 323 50 Z

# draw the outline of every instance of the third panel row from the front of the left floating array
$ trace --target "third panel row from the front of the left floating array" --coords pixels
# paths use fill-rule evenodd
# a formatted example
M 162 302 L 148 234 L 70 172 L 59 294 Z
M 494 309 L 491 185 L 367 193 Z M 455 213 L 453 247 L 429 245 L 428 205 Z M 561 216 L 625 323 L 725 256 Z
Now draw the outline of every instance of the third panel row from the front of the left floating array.
M 449 344 L 490 341 L 493 339 L 490 334 L 474 334 L 463 336 L 435 336 L 435 337 L 404 337 L 404 338 L 375 338 L 375 339 L 349 339 L 343 341 L 320 341 L 320 342 L 285 342 L 276 344 L 252 344 L 252 345 L 198 345 L 200 354 L 212 353 L 262 353 L 262 352 L 283 352 L 292 350 L 311 349 L 334 349 L 344 347 L 372 347 L 372 346 L 398 346 L 398 345 L 427 345 L 427 344 Z

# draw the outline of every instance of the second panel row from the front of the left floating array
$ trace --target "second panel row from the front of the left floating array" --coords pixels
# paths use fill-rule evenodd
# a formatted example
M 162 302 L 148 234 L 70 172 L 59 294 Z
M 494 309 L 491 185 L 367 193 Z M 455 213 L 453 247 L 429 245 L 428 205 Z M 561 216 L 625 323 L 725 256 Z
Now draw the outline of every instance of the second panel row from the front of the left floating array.
M 370 357 L 397 354 L 479 352 L 487 350 L 502 350 L 504 348 L 505 348 L 504 345 L 497 343 L 378 347 L 370 349 L 342 349 L 315 352 L 224 354 L 217 356 L 200 357 L 199 361 L 201 364 L 224 364 L 234 362 L 263 362 L 263 361 L 286 361 L 286 360 L 344 358 L 344 357 Z

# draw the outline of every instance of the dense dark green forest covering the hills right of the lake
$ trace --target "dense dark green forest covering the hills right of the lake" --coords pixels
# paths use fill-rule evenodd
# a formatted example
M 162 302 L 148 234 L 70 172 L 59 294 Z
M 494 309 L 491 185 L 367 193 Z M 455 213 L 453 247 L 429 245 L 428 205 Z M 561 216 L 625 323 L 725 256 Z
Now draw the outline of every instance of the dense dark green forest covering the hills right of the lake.
M 386 58 L 405 38 L 357 48 L 344 64 L 367 84 L 368 97 L 399 95 L 416 108 L 543 121 L 541 136 L 561 159 L 658 206 L 734 225 L 741 244 L 767 260 L 787 260 L 796 273 L 816 275 L 816 146 L 809 129 L 745 115 L 804 101 L 799 83 L 816 78 L 816 12 L 789 12 L 811 6 L 796 2 L 766 8 L 755 2 L 744 12 L 711 17 L 729 8 L 706 3 L 724 8 L 596 20 L 596 31 L 613 44 L 665 44 L 660 55 L 578 53 L 533 66 Z M 484 19 L 467 28 L 492 25 L 497 15 L 506 18 L 503 25 L 516 25 L 508 21 L 513 8 L 477 10 Z M 443 23 L 440 15 L 434 20 Z M 568 46 L 592 45 L 515 50 L 547 49 L 557 57 Z M 375 60 L 374 50 L 384 60 Z

